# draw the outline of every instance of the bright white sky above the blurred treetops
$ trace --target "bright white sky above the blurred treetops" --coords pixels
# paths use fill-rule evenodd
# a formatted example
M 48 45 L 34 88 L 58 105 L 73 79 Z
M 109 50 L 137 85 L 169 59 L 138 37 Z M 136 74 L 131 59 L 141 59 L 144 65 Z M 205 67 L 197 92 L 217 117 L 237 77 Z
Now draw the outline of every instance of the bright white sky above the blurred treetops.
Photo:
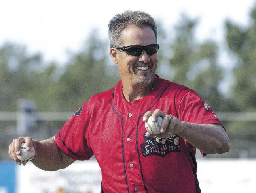
M 46 60 L 64 63 L 67 51 L 77 51 L 91 28 L 107 38 L 108 21 L 126 9 L 146 11 L 161 20 L 166 28 L 177 23 L 181 13 L 200 18 L 199 41 L 224 41 L 224 20 L 247 25 L 254 0 L 0 0 L 0 46 L 12 41 L 40 51 Z M 222 48 L 225 49 L 225 48 Z M 221 57 L 228 63 L 228 56 Z M 225 61 L 226 58 L 227 61 Z

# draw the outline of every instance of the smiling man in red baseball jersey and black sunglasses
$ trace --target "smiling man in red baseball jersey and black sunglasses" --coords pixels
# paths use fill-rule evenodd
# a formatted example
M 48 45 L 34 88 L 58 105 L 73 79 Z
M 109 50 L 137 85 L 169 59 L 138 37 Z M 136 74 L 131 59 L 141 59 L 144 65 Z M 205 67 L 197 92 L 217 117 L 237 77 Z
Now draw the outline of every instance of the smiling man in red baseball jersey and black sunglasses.
M 48 171 L 94 154 L 102 171 L 101 192 L 201 192 L 195 150 L 228 152 L 224 128 L 195 91 L 155 75 L 159 45 L 150 15 L 125 11 L 108 26 L 110 56 L 121 81 L 92 96 L 51 139 L 14 139 L 11 158 L 21 164 L 16 155 L 22 142 L 36 149 L 32 163 Z M 146 132 L 151 115 L 163 117 L 161 137 Z

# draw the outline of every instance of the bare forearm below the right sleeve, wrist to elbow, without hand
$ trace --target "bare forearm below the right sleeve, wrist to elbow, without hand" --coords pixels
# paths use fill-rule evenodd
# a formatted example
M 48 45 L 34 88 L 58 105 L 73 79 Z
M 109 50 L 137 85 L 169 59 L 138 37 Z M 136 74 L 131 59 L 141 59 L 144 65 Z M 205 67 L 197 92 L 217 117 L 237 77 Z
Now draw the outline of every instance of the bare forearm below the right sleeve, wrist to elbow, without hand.
M 182 122 L 182 131 L 177 135 L 207 154 L 225 153 L 230 149 L 228 135 L 218 124 Z

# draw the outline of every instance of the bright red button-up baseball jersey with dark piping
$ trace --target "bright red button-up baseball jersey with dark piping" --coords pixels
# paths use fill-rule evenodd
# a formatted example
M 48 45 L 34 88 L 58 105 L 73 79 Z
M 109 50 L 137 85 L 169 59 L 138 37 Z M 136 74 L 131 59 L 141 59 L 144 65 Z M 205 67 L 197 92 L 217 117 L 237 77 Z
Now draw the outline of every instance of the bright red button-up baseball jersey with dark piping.
M 55 142 L 75 160 L 95 155 L 101 192 L 200 193 L 196 148 L 178 135 L 146 137 L 142 118 L 155 109 L 185 122 L 221 124 L 195 91 L 156 75 L 154 88 L 140 100 L 127 102 L 121 81 L 92 96 L 64 124 Z

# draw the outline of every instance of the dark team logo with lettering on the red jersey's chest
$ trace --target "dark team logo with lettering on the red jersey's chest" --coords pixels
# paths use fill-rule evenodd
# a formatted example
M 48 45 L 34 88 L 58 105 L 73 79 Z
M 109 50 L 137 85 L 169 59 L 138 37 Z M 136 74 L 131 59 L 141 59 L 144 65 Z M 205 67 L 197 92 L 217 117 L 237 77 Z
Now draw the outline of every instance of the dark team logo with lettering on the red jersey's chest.
M 145 141 L 140 144 L 141 152 L 146 156 L 164 157 L 170 152 L 180 152 L 180 137 L 172 135 L 167 138 L 147 137 L 146 132 L 143 135 Z

